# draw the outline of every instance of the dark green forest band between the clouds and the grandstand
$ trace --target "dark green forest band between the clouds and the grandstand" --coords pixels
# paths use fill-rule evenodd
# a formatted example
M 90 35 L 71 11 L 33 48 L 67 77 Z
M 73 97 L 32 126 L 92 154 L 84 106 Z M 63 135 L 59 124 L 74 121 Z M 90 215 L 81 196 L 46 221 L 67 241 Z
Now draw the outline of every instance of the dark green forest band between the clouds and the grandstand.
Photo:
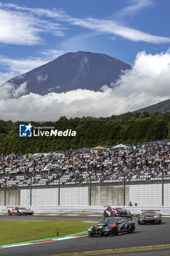
M 29 123 L 29 122 L 28 122 Z M 114 146 L 117 143 L 135 144 L 153 140 L 170 140 L 170 113 L 124 113 L 108 118 L 61 117 L 55 122 L 33 126 L 55 127 L 77 131 L 75 137 L 19 137 L 20 121 L 0 120 L 0 153 L 36 153 L 66 151 L 82 147 Z M 26 122 L 24 122 L 26 124 Z

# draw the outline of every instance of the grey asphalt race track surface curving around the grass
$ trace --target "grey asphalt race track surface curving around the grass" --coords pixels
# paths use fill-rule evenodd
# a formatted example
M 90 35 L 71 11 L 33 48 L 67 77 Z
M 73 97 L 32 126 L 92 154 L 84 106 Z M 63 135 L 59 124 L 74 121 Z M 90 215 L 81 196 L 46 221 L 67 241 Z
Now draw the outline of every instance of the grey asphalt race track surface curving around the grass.
M 28 220 L 80 220 L 80 221 L 98 221 L 101 217 L 93 216 L 0 216 L 0 220 L 10 219 L 28 219 Z M 136 222 L 136 219 L 134 218 Z M 73 231 L 74 233 L 74 231 Z M 70 253 L 70 252 L 90 252 L 105 249 L 118 249 L 137 246 L 152 246 L 170 244 L 170 218 L 163 217 L 161 225 L 138 225 L 134 233 L 123 234 L 119 236 L 102 237 L 82 237 L 71 238 L 68 240 L 51 241 L 43 244 L 14 246 L 0 249 L 0 255 L 3 256 L 42 256 L 50 254 Z M 112 254 L 109 254 L 112 255 Z M 116 255 L 170 255 L 169 249 L 154 250 L 150 252 L 125 252 L 116 253 Z

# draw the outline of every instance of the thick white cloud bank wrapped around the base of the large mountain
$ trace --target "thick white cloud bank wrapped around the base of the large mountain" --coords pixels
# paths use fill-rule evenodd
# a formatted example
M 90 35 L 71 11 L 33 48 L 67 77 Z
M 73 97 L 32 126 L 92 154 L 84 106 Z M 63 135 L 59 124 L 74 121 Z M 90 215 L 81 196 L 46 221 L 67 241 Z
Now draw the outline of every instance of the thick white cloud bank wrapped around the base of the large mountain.
M 142 52 L 136 56 L 134 68 L 117 81 L 117 88 L 103 86 L 103 91 L 77 89 L 45 96 L 28 94 L 18 99 L 4 95 L 5 99 L 0 99 L 0 118 L 55 121 L 60 116 L 111 116 L 169 99 L 169 82 L 170 52 L 154 56 Z M 18 95 L 26 89 L 24 86 Z

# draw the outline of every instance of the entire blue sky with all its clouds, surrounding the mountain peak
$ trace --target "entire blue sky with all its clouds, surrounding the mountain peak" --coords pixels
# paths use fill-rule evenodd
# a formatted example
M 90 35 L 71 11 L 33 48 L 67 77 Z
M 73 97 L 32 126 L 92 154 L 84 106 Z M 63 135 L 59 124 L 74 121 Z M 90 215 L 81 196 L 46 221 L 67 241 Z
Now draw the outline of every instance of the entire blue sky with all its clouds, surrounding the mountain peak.
M 0 118 L 52 120 L 53 108 L 55 119 L 111 116 L 169 99 L 169 10 L 169 0 L 0 1 L 0 85 L 70 51 L 106 53 L 133 65 L 117 80 L 119 88 L 98 92 L 20 96 L 26 84 L 16 91 L 8 83 L 1 86 Z

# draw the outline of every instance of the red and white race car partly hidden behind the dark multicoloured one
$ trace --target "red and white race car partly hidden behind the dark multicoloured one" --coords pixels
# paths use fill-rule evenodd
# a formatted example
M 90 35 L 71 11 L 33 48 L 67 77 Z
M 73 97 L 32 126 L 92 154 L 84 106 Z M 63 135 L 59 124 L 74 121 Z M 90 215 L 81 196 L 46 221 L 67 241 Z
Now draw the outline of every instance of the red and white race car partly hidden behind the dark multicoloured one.
M 112 207 L 108 206 L 106 210 L 104 210 L 104 217 L 126 217 L 126 218 L 131 218 L 132 215 L 131 212 L 126 210 L 123 207 Z

